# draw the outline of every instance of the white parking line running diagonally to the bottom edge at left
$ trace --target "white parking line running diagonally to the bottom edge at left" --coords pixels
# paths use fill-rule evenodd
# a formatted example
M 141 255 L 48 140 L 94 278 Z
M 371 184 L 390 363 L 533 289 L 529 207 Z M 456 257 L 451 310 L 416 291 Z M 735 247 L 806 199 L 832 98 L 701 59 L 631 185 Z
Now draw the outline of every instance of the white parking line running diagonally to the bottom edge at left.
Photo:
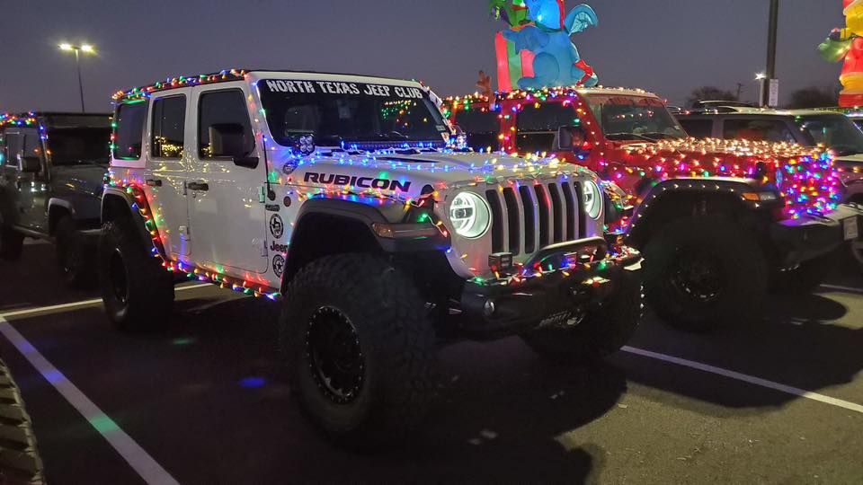
M 71 404 L 82 416 L 90 423 L 102 437 L 104 437 L 111 447 L 123 457 L 126 462 L 132 467 L 135 472 L 147 483 L 158 483 L 165 485 L 178 484 L 170 473 L 165 471 L 152 456 L 144 451 L 138 443 L 129 437 L 125 431 L 120 429 L 107 414 L 102 412 L 93 401 L 90 401 L 84 392 L 81 392 L 75 384 L 72 384 L 63 375 L 57 367 L 52 365 L 29 341 L 24 339 L 21 333 L 16 331 L 12 324 L 6 322 L 3 317 L 0 317 L 0 333 L 12 342 L 13 346 L 22 353 L 32 366 L 45 377 L 49 384 L 63 396 L 69 404 Z

